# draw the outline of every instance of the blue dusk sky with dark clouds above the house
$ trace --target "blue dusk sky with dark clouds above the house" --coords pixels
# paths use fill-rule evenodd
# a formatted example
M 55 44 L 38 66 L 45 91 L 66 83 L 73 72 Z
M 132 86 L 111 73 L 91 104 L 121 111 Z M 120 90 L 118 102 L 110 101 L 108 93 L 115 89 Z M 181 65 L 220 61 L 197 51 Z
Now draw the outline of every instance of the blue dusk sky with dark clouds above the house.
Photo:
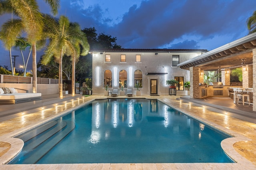
M 44 1 L 37 2 L 49 13 Z M 81 29 L 95 27 L 97 33 L 116 37 L 122 48 L 210 51 L 248 35 L 246 20 L 255 10 L 256 0 L 60 0 L 58 16 L 68 16 Z M 0 25 L 6 19 L 9 16 L 0 16 Z M 0 65 L 10 68 L 1 41 L 0 47 Z M 38 59 L 40 55 L 42 51 Z M 21 59 L 16 58 L 17 68 Z

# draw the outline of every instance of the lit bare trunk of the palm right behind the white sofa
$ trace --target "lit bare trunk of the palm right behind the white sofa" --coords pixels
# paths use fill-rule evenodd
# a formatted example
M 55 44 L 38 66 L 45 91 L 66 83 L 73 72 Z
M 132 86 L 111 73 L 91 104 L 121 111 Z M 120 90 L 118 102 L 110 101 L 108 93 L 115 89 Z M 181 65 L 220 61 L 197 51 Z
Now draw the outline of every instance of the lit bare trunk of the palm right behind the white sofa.
M 36 66 L 36 43 L 32 44 L 32 84 L 33 93 L 37 92 L 37 66 Z

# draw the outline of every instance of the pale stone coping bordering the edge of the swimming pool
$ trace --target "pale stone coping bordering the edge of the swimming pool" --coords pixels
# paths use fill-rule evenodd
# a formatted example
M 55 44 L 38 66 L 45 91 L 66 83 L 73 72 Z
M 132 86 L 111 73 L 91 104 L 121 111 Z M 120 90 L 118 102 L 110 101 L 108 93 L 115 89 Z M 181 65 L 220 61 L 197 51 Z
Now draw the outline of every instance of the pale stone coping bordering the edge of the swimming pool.
M 98 99 L 107 99 L 108 97 L 100 97 Z M 127 98 L 127 97 L 124 97 Z M 132 98 L 132 97 L 131 97 Z M 164 100 L 158 99 L 158 98 L 152 98 L 150 97 L 140 97 L 140 98 L 146 98 L 146 99 L 154 99 L 154 100 L 159 100 L 160 102 L 170 106 L 170 107 L 174 107 L 172 106 L 172 104 L 165 102 Z M 40 168 L 45 168 L 45 167 L 52 167 L 52 168 L 56 168 L 56 167 L 69 167 L 69 168 L 76 168 L 76 167 L 80 167 L 80 168 L 84 168 L 84 167 L 95 167 L 96 169 L 108 169 L 108 168 L 176 168 L 176 169 L 186 169 L 186 167 L 189 167 L 189 169 L 194 168 L 198 168 L 198 169 L 205 169 L 206 167 L 210 168 L 212 167 L 213 169 L 234 169 L 234 168 L 247 168 L 247 169 L 255 169 L 256 166 L 254 166 L 254 164 L 252 164 L 252 162 L 250 162 L 249 160 L 247 160 L 246 158 L 244 158 L 242 155 L 240 155 L 238 152 L 236 152 L 236 150 L 233 147 L 233 144 L 238 142 L 238 141 L 250 141 L 251 139 L 248 137 L 245 137 L 244 135 L 241 135 L 239 133 L 236 133 L 230 129 L 226 129 L 225 127 L 222 127 L 221 125 L 218 125 L 214 122 L 211 122 L 207 119 L 204 119 L 202 117 L 193 115 L 191 113 L 189 113 L 188 111 L 186 111 L 185 109 L 182 108 L 177 108 L 174 107 L 174 109 L 176 109 L 177 111 L 180 111 L 182 113 L 185 113 L 186 115 L 199 120 L 203 123 L 206 123 L 207 125 L 210 125 L 212 127 L 214 127 L 215 129 L 218 129 L 224 133 L 227 133 L 228 135 L 231 135 L 232 137 L 224 139 L 221 142 L 221 147 L 224 150 L 224 152 L 230 156 L 230 158 L 232 158 L 232 160 L 235 161 L 235 163 L 142 163 L 142 164 L 134 164 L 134 163 L 130 163 L 130 164 L 112 164 L 112 163 L 108 163 L 108 164 L 26 164 L 26 165 L 9 165 L 7 164 L 8 162 L 10 162 L 10 160 L 12 160 L 22 149 L 24 143 L 22 140 L 14 138 L 16 135 L 23 133 L 25 131 L 28 131 L 34 127 L 37 127 L 39 125 L 42 125 L 44 123 L 47 123 L 50 120 L 53 119 L 57 119 L 58 117 L 62 117 L 63 115 L 66 115 L 67 113 L 72 112 L 75 109 L 79 109 L 80 107 L 83 107 L 84 105 L 94 101 L 97 99 L 97 96 L 95 98 L 92 98 L 86 102 L 83 102 L 81 104 L 78 104 L 77 106 L 74 106 L 72 108 L 66 109 L 64 111 L 61 111 L 60 113 L 56 114 L 56 115 L 52 115 L 50 117 L 47 117 L 46 119 L 44 119 L 44 121 L 38 121 L 38 122 L 34 122 L 24 128 L 21 129 L 17 129 L 11 133 L 8 133 L 6 135 L 2 135 L 0 137 L 0 141 L 2 142 L 7 142 L 11 144 L 11 148 L 8 150 L 8 152 L 6 152 L 6 154 L 4 154 L 3 156 L 0 157 L 0 162 L 2 165 L 0 165 L 1 169 L 4 168 L 11 168 L 11 167 L 15 167 L 15 168 L 19 168 L 19 167 L 26 167 L 26 168 L 33 168 L 33 167 L 40 167 Z M 136 98 L 134 98 L 136 99 Z M 78 99 L 79 100 L 79 99 Z M 97 168 L 98 167 L 98 168 Z

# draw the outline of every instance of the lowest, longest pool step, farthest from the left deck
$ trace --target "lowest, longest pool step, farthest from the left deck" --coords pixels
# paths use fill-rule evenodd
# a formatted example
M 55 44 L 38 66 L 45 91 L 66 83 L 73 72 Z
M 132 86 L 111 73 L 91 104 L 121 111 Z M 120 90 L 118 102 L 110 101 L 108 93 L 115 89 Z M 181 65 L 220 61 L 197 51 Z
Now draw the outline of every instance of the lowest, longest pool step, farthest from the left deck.
M 40 158 L 47 154 L 55 145 L 57 145 L 66 135 L 68 135 L 74 128 L 75 124 L 71 121 L 66 121 L 66 127 L 59 133 L 56 133 L 47 141 L 41 143 L 39 147 L 36 147 L 34 151 L 29 155 L 22 164 L 36 164 Z

